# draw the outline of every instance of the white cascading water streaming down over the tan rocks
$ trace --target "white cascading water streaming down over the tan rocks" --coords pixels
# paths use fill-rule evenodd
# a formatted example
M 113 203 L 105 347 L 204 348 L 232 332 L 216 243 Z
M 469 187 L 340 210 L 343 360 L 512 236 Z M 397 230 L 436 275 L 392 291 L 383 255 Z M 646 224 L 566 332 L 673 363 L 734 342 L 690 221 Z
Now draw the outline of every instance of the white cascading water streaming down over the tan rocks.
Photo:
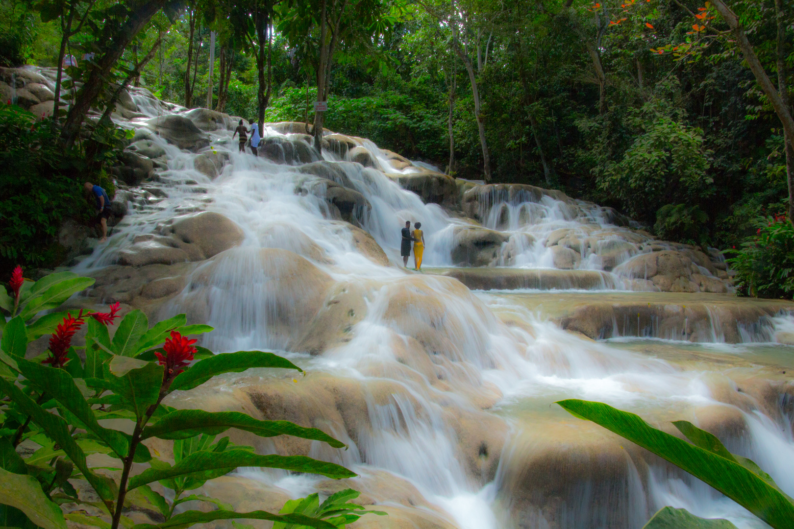
M 179 110 L 142 92 L 133 93 L 133 100 L 148 117 Z M 125 125 L 141 128 L 143 121 Z M 288 139 L 272 128 L 266 134 Z M 282 351 L 310 373 L 307 380 L 339 381 L 352 388 L 350 394 L 360 395 L 366 420 L 357 425 L 355 442 L 344 420 L 318 417 L 326 431 L 351 445 L 350 450 L 340 455 L 313 443 L 313 457 L 353 466 L 364 477 L 385 470 L 395 479 L 408 481 L 461 529 L 518 527 L 527 520 L 530 527 L 602 527 L 597 520 L 611 509 L 625 509 L 626 527 L 638 527 L 667 504 L 689 508 L 700 516 L 727 517 L 742 528 L 761 527 L 744 509 L 699 481 L 682 479 L 663 467 L 651 467 L 647 476 L 641 476 L 629 456 L 625 482 L 620 485 L 628 492 L 621 493 L 615 505 L 592 504 L 593 490 L 601 485 L 584 481 L 576 485 L 576 504 L 559 508 L 561 518 L 547 519 L 542 509 L 518 500 L 522 497 L 516 489 L 520 467 L 544 443 L 565 443 L 565 432 L 576 431 L 575 423 L 567 426 L 571 418 L 551 406 L 553 401 L 577 397 L 605 401 L 659 420 L 691 419 L 703 408 L 733 406 L 746 416 L 750 431 L 742 439 L 733 439 L 734 448 L 756 458 L 774 472 L 786 493 L 794 494 L 794 481 L 785 473 L 789 463 L 784 462 L 790 462 L 794 452 L 790 418 L 788 422 L 770 418 L 761 404 L 746 403 L 743 408 L 723 404 L 718 388 L 725 375 L 719 368 L 709 368 L 714 371 L 711 377 L 703 369 L 642 355 L 619 343 L 583 339 L 524 306 L 499 309 L 495 307 L 499 303 L 491 303 L 496 299 L 509 305 L 509 297 L 478 297 L 449 278 L 377 265 L 357 250 L 351 230 L 330 218 L 322 193 L 296 193 L 310 175 L 299 166 L 228 150 L 230 136 L 225 130 L 210 132 L 211 148 L 228 152 L 229 158 L 217 178 L 196 169 L 195 154 L 152 136 L 165 152 L 168 169 L 160 171 L 158 182 L 145 184 L 148 191 L 137 195 L 132 213 L 78 270 L 90 273 L 114 263 L 136 236 L 153 232 L 182 213 L 206 209 L 233 220 L 245 234 L 241 246 L 225 252 L 222 259 L 199 264 L 183 293 L 165 305 L 161 316 L 190 313 L 198 306 L 206 322 L 216 328 L 204 341 L 214 351 Z M 374 144 L 365 142 L 364 147 L 381 167 L 391 167 Z M 382 171 L 342 163 L 328 151 L 323 151 L 323 158 L 339 165 L 372 206 L 368 215 L 357 220 L 393 263 L 399 263 L 399 228 L 411 220 L 421 221 L 426 232 L 426 264 L 452 264 L 454 230 L 467 225 L 464 220 L 451 217 L 441 206 L 423 203 Z M 596 259 L 599 252 L 585 242 L 594 232 L 616 233 L 594 244 L 626 242 L 619 228 L 609 224 L 594 205 L 574 206 L 549 196 L 524 198 L 514 203 L 499 201 L 481 212 L 488 228 L 533 236 L 534 242 L 519 247 L 513 266 L 553 267 L 553 257 L 542 241 L 562 228 L 579 236 L 582 270 L 601 270 Z M 639 246 L 637 251 L 643 251 Z M 617 264 L 635 253 L 616 247 Z M 268 253 L 263 258 L 263 248 L 288 252 Z M 292 254 L 309 259 L 311 266 L 306 270 L 314 271 L 294 283 L 280 282 L 278 278 L 289 271 L 283 267 L 294 266 Z M 615 274 L 610 277 L 615 278 L 613 288 L 622 284 Z M 315 285 L 321 283 L 354 293 L 365 314 L 345 328 L 349 339 L 330 342 L 322 354 L 311 356 L 293 345 L 301 343 L 303 329 L 312 325 L 313 315 L 307 319 L 303 312 L 303 299 L 313 296 L 319 288 Z M 514 323 L 506 324 L 499 316 L 503 309 L 511 312 Z M 788 332 L 794 330 L 792 321 L 781 315 L 773 324 Z M 639 322 L 637 327 L 641 328 Z M 719 342 L 719 324 L 714 329 L 712 341 Z M 464 423 L 469 430 L 461 426 Z M 486 478 L 488 472 L 478 471 L 476 464 L 484 462 L 493 449 L 486 443 L 472 449 L 462 439 L 471 435 L 467 432 L 489 425 L 503 431 L 507 440 L 498 470 Z M 316 481 L 277 472 L 240 473 L 293 496 L 311 492 Z

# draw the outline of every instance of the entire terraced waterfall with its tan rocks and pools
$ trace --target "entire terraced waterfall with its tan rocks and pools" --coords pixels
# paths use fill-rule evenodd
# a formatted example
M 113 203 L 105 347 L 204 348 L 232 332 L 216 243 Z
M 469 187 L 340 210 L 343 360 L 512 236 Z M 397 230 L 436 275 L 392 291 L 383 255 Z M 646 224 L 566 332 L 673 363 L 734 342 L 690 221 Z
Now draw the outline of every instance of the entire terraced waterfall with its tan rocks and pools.
M 37 72 L 45 82 L 25 82 L 49 87 Z M 232 140 L 238 118 L 129 94 L 146 117 L 114 115 L 135 131 L 122 167 L 146 175 L 117 176 L 108 243 L 63 234 L 74 270 L 97 279 L 68 306 L 184 312 L 215 328 L 200 344 L 218 354 L 287 355 L 305 377 L 225 374 L 167 404 L 318 427 L 349 449 L 229 435 L 360 474 L 240 469 L 195 493 L 277 511 L 349 486 L 389 513 L 356 527 L 634 529 L 666 504 L 755 527 L 553 404 L 583 398 L 665 431 L 691 420 L 794 494 L 794 304 L 730 295 L 719 251 L 560 191 L 456 181 L 352 134 L 324 131 L 320 153 L 301 122 L 265 124 L 254 157 Z M 422 224 L 422 272 L 403 268 L 406 221 Z

